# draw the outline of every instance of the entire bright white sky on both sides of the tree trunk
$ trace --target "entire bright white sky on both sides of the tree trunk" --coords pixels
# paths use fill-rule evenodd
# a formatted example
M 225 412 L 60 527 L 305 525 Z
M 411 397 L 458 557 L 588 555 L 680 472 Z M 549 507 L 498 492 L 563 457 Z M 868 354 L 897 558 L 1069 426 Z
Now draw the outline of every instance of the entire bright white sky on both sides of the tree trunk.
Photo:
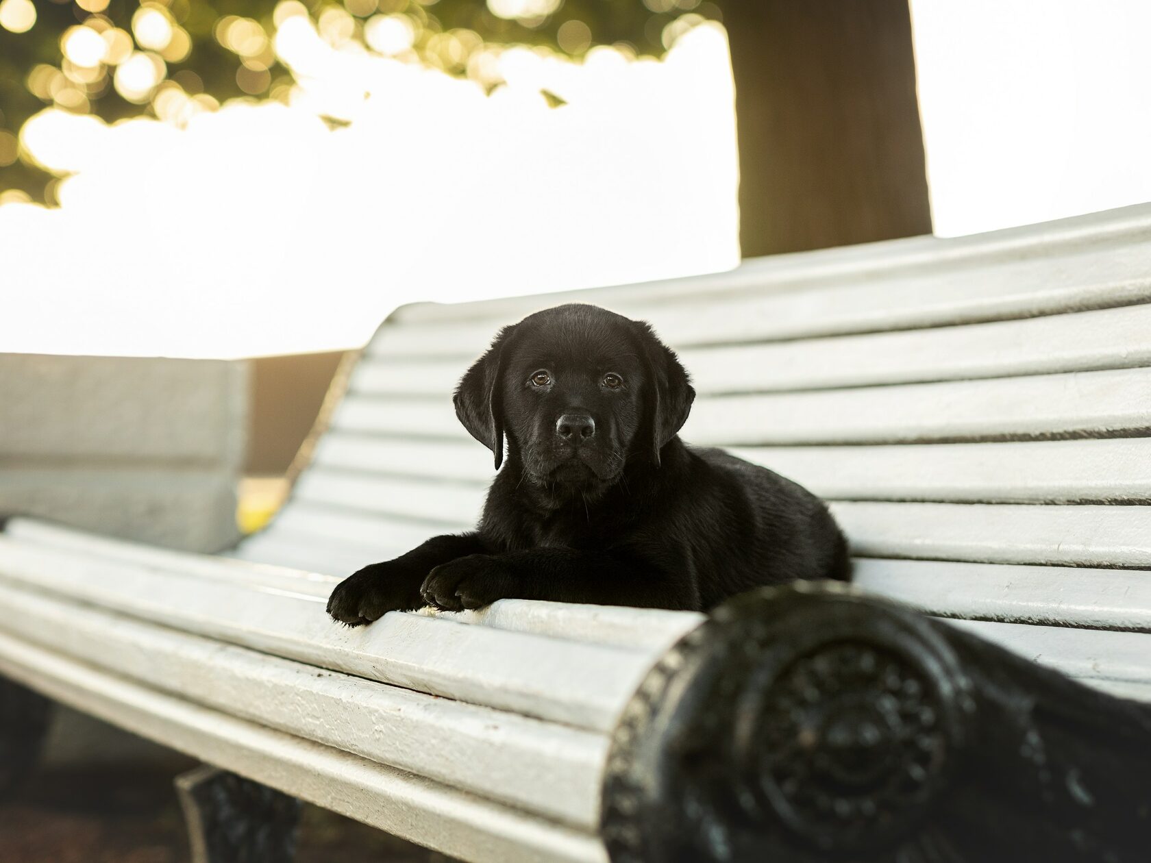
M 937 234 L 1151 200 L 1151 2 L 912 9 Z M 26 147 L 75 174 L 58 209 L 0 206 L 0 351 L 348 348 L 413 299 L 738 261 L 717 28 L 658 63 L 509 52 L 493 98 L 334 51 L 298 17 L 276 51 L 304 84 L 290 108 L 226 106 L 186 128 L 49 112 L 26 128 Z M 548 108 L 541 86 L 569 105 Z

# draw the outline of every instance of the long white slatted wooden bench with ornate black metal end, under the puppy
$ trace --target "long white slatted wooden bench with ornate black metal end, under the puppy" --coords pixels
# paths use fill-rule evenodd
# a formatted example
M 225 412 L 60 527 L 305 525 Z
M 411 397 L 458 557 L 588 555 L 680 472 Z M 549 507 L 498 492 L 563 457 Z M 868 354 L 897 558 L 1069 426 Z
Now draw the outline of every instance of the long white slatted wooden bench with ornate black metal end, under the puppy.
M 576 298 L 649 320 L 699 391 L 683 437 L 730 446 L 832 501 L 859 588 L 933 618 L 813 588 L 753 598 L 702 627 L 695 613 L 521 601 L 463 614 L 391 613 L 359 629 L 333 624 L 325 601 L 343 575 L 472 525 L 491 460 L 458 426 L 451 389 L 501 324 Z M 1024 756 L 1038 740 L 1028 735 L 1042 735 L 1047 721 L 1029 711 L 1050 707 L 1052 693 L 1119 730 L 1092 741 L 1095 767 L 1069 767 L 1077 771 L 1065 784 L 1072 792 L 1106 799 L 1093 769 L 1111 771 L 1114 788 L 1125 789 L 1134 786 L 1119 780 L 1115 764 L 1151 769 L 1146 747 L 1130 746 L 1138 733 L 1151 735 L 1151 720 L 1136 705 L 1093 695 L 1151 702 L 1151 207 L 780 255 L 715 276 L 406 306 L 337 389 L 291 499 L 238 547 L 238 559 L 10 520 L 0 534 L 0 673 L 272 788 L 491 863 L 604 861 L 605 841 L 615 861 L 706 858 L 674 857 L 681 849 L 653 839 L 660 830 L 643 826 L 658 824 L 653 812 L 670 819 L 669 835 L 673 822 L 693 824 L 707 835 L 699 841 L 711 842 L 708 853 L 725 858 L 723 841 L 746 825 L 725 833 L 677 817 L 687 810 L 653 788 L 665 778 L 669 747 L 685 746 L 684 728 L 700 740 L 715 733 L 700 730 L 709 710 L 691 721 L 683 711 L 702 692 L 700 680 L 718 686 L 704 662 L 722 664 L 716 646 L 750 655 L 747 646 L 757 644 L 775 656 L 777 642 L 807 643 L 803 633 L 814 629 L 796 633 L 783 618 L 771 626 L 787 637 L 769 639 L 771 608 L 823 620 L 823 648 L 836 639 L 877 644 L 878 652 L 860 654 L 870 658 L 859 659 L 859 674 L 894 663 L 875 673 L 902 680 L 897 695 L 932 723 L 940 711 L 951 717 L 950 736 L 924 738 L 924 750 L 950 753 L 951 762 L 956 751 L 985 759 L 994 748 L 973 749 L 974 732 L 961 726 L 973 704 L 984 705 L 976 712 L 985 723 L 986 705 L 999 703 L 969 694 L 1000 692 L 1009 678 L 1019 696 L 1012 716 L 1031 723 Z M 1028 662 L 1012 664 L 954 627 Z M 761 666 L 724 685 L 759 679 Z M 817 666 L 818 680 L 837 680 Z M 793 665 L 772 667 L 777 682 L 795 683 Z M 1060 688 L 1062 679 L 1039 667 L 1088 688 Z M 848 678 L 834 692 L 801 690 L 832 701 L 840 690 L 882 695 L 874 680 Z M 677 689 L 676 680 L 687 682 Z M 935 707 L 915 701 L 923 687 Z M 1029 687 L 1045 695 L 1028 695 Z M 737 724 L 717 739 L 724 751 L 715 759 L 730 755 L 730 739 L 755 761 L 745 725 L 762 718 L 764 697 L 746 696 L 760 708 L 715 708 Z M 892 710 L 889 719 L 904 716 Z M 679 749 L 668 742 L 676 733 Z M 870 732 L 860 734 L 852 740 L 862 746 Z M 1068 734 L 1050 742 L 1053 759 Z M 1111 757 L 1108 746 L 1127 748 Z M 660 781 L 641 781 L 646 770 Z M 923 772 L 915 767 L 913 779 Z M 795 782 L 802 786 L 787 787 Z M 655 796 L 641 800 L 648 792 Z M 763 794 L 791 812 L 779 816 L 788 841 L 820 849 L 825 837 L 849 843 L 863 830 L 837 833 L 843 824 L 805 822 L 795 801 Z M 760 797 L 748 792 L 735 807 L 754 809 L 748 801 Z M 875 804 L 853 800 L 808 803 L 844 824 L 867 822 Z M 1110 831 L 1118 842 L 1131 818 L 1151 818 L 1151 800 L 1143 815 L 1137 807 L 1092 811 L 1112 809 L 1128 820 L 1076 828 Z M 1051 811 L 1052 823 L 1067 820 Z M 895 822 L 918 835 L 922 818 L 908 818 Z M 1026 837 L 1043 847 L 1041 833 L 1001 841 Z

